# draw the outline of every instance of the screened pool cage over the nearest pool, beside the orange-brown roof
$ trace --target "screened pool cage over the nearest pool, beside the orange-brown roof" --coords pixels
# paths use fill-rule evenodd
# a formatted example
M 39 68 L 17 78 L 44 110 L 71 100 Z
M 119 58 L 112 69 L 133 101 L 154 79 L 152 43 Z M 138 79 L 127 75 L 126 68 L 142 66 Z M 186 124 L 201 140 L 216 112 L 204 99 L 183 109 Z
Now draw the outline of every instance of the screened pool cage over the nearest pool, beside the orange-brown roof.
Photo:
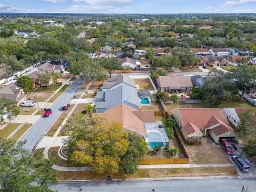
M 146 129 L 146 141 L 151 149 L 154 149 L 156 145 L 165 146 L 170 145 L 169 138 L 164 130 L 164 125 L 161 121 L 155 123 L 145 123 Z

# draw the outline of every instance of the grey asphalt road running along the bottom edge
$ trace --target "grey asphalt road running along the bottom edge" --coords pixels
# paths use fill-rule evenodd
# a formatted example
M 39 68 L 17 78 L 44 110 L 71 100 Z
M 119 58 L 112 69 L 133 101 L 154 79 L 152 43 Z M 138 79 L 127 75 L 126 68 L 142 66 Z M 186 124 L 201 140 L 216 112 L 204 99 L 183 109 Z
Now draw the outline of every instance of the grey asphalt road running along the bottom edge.
M 242 184 L 243 183 L 243 184 Z M 256 179 L 173 179 L 173 180 L 147 180 L 147 181 L 106 181 L 106 182 L 68 182 L 51 185 L 57 191 L 108 191 L 108 192 L 240 192 L 242 185 L 248 187 L 250 192 L 256 191 Z M 153 190 L 154 189 L 154 190 Z

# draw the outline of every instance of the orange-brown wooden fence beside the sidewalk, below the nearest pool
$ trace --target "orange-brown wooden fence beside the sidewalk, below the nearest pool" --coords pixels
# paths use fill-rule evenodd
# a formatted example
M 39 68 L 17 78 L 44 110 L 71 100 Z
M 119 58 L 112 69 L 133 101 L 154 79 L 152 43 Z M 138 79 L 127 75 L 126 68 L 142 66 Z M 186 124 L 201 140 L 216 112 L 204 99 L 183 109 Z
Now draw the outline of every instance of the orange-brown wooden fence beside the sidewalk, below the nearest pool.
M 158 159 L 145 159 L 141 165 L 153 164 L 187 164 L 189 158 L 158 158 Z

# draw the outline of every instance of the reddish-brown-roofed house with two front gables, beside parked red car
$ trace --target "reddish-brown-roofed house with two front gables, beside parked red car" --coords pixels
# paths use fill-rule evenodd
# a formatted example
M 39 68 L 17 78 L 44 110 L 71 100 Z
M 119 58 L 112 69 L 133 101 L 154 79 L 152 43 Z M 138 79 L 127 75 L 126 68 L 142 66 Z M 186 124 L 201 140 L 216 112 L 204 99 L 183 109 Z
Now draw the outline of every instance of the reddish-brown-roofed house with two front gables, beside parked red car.
M 173 109 L 172 115 L 186 140 L 209 134 L 217 143 L 221 139 L 234 140 L 236 137 L 236 132 L 230 127 L 223 109 Z

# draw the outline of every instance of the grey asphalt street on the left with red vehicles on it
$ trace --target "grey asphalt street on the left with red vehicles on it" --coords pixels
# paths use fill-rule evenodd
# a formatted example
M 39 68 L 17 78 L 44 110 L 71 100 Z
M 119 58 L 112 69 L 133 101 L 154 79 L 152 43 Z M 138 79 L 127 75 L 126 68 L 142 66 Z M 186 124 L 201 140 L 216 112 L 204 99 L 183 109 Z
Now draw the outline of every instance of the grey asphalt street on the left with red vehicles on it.
M 37 143 L 45 136 L 47 131 L 51 128 L 53 123 L 62 113 L 62 105 L 63 103 L 69 102 L 73 96 L 78 92 L 80 87 L 83 85 L 83 80 L 81 78 L 77 78 L 68 89 L 61 94 L 61 96 L 55 100 L 53 105 L 51 106 L 52 114 L 49 117 L 41 117 L 38 119 L 36 123 L 34 123 L 30 129 L 22 136 L 21 141 L 27 140 L 24 148 L 29 151 L 33 151 Z

